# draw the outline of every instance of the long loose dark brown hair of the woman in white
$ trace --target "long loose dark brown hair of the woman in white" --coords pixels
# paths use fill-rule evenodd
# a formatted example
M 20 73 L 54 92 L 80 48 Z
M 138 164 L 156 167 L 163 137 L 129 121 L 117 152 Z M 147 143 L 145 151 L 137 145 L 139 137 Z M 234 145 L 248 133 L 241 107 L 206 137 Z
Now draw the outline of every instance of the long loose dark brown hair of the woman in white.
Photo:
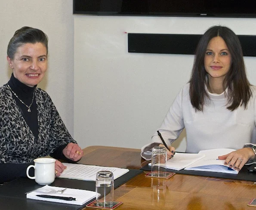
M 207 72 L 204 68 L 204 56 L 207 45 L 211 39 L 220 36 L 226 43 L 231 54 L 231 66 L 223 81 L 223 89 L 228 88 L 227 109 L 234 111 L 240 105 L 247 108 L 252 96 L 250 83 L 246 76 L 243 52 L 237 35 L 228 27 L 210 27 L 201 37 L 194 57 L 194 66 L 189 80 L 189 95 L 192 106 L 196 111 L 203 111 L 206 99 L 209 99 L 205 85 L 207 85 Z

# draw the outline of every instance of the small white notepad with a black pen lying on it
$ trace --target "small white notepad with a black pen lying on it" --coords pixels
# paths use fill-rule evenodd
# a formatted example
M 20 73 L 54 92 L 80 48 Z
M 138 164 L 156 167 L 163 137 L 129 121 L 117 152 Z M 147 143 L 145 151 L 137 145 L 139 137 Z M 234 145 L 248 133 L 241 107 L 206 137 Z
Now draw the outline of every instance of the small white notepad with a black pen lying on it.
M 49 189 L 54 189 L 56 191 L 63 190 L 63 193 L 56 192 L 56 193 L 47 193 Z M 83 205 L 86 202 L 96 198 L 96 192 L 83 190 L 83 189 L 70 189 L 70 188 L 63 188 L 63 187 L 54 187 L 54 186 L 43 186 L 36 191 L 32 191 L 27 193 L 27 198 L 41 200 L 41 201 L 50 201 L 50 202 L 58 202 L 58 203 L 65 203 L 65 204 L 75 204 L 75 205 Z M 75 201 L 65 201 L 62 199 L 55 199 L 55 198 L 42 198 L 38 197 L 37 195 L 52 195 L 52 196 L 62 196 L 62 197 L 72 197 L 76 198 Z

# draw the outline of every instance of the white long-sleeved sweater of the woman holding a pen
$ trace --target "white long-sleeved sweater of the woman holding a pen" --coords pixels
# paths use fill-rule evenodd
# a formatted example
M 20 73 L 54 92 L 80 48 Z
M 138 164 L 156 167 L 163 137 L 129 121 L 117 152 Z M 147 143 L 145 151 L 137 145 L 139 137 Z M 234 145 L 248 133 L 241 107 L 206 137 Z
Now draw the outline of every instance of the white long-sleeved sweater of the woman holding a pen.
M 229 111 L 226 108 L 227 98 L 224 92 L 208 92 L 210 100 L 204 105 L 204 111 L 195 111 L 190 102 L 189 84 L 186 84 L 176 96 L 158 130 L 170 146 L 185 128 L 188 153 L 218 148 L 237 150 L 246 143 L 255 144 L 256 86 L 252 86 L 251 90 L 253 96 L 246 110 L 244 106 L 240 106 L 234 111 Z M 151 159 L 152 147 L 162 143 L 157 132 L 152 136 L 151 142 L 142 147 L 141 156 L 145 159 Z

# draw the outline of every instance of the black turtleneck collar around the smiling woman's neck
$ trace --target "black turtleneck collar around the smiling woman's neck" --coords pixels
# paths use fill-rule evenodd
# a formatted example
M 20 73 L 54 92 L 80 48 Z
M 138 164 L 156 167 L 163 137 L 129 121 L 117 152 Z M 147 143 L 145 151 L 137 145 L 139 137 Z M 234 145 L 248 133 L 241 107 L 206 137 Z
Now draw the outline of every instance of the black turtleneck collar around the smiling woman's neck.
M 25 84 L 23 84 L 21 81 L 19 81 L 17 78 L 14 77 L 13 73 L 8 81 L 9 86 L 11 87 L 12 91 L 17 94 L 17 96 L 22 98 L 32 98 L 33 92 L 37 85 L 34 87 L 29 87 Z

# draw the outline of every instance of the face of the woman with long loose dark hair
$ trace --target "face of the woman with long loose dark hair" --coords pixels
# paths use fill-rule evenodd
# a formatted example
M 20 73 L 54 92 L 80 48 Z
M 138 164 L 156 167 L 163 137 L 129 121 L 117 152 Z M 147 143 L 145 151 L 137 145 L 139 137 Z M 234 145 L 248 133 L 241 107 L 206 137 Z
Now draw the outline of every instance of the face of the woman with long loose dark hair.
M 216 36 L 210 40 L 204 56 L 204 68 L 208 73 L 208 79 L 225 78 L 231 66 L 231 54 L 225 41 Z

